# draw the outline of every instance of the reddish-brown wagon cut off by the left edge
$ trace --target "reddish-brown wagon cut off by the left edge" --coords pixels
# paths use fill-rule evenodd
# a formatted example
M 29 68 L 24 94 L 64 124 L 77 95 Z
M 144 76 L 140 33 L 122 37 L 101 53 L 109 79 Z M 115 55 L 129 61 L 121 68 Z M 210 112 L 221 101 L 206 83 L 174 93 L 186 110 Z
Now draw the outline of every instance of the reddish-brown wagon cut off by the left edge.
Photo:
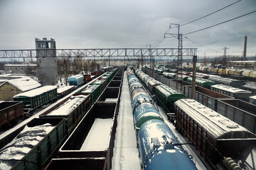
M 23 117 L 23 103 L 18 101 L 4 101 L 0 103 L 0 129 L 15 125 L 18 118 Z

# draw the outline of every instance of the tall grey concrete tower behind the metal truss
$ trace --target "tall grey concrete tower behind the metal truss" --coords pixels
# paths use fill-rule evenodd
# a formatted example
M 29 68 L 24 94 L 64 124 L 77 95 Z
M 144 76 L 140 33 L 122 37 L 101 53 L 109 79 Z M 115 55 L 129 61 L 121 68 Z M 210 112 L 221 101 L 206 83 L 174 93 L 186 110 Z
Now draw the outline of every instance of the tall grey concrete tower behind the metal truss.
M 58 69 L 55 40 L 36 38 L 36 57 L 38 63 L 38 80 L 42 86 L 58 84 Z

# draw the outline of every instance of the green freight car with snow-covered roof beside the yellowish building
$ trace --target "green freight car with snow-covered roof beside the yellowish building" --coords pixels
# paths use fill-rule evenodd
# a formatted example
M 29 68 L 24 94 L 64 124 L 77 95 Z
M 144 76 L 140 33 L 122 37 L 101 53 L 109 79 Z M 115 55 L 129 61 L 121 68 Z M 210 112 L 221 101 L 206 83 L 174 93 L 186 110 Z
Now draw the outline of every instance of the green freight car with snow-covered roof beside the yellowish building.
M 56 86 L 43 86 L 31 91 L 26 91 L 14 96 L 14 101 L 22 101 L 25 115 L 31 115 L 31 113 L 46 103 L 50 103 L 57 98 Z

